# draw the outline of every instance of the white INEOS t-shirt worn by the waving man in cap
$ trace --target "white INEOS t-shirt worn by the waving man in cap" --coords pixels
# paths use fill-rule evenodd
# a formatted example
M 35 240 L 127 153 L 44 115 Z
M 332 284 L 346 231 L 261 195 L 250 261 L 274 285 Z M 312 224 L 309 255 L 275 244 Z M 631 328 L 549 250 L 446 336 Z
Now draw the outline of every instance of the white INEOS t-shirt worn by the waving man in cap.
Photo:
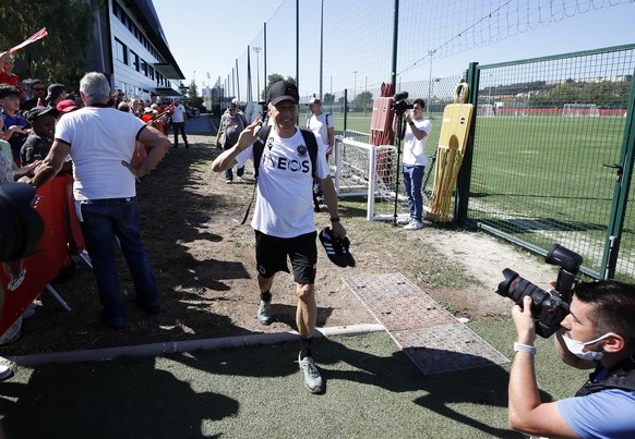
M 317 139 L 317 145 L 320 141 Z M 253 160 L 253 146 L 236 157 L 241 167 Z M 326 156 L 317 154 L 315 176 L 328 175 Z M 257 197 L 251 227 L 277 237 L 295 237 L 315 231 L 311 158 L 299 129 L 289 138 L 271 129 L 257 176 Z

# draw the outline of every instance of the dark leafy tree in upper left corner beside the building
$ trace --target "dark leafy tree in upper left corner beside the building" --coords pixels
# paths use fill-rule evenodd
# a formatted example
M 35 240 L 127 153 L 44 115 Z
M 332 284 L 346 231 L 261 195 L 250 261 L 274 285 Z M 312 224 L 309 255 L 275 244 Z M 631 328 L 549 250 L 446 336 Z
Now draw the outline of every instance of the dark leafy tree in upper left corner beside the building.
M 17 46 L 43 27 L 48 36 L 15 53 L 14 72 L 46 84 L 61 83 L 77 89 L 88 70 L 95 12 L 105 0 L 5 0 L 0 8 L 2 51 Z

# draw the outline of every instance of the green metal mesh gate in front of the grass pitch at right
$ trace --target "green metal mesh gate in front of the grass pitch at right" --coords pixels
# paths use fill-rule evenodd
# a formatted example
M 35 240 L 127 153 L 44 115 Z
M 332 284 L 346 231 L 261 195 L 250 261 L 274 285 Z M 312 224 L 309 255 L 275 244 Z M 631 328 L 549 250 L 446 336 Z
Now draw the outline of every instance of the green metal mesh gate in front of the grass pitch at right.
M 559 243 L 587 275 L 633 281 L 634 71 L 635 45 L 470 64 L 455 219 L 542 255 Z

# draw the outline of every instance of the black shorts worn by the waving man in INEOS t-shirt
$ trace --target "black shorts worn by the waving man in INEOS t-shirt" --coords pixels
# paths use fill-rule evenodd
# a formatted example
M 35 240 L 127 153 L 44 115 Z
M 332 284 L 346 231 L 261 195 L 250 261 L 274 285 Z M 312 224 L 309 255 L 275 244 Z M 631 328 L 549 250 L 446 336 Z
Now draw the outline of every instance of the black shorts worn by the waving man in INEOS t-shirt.
M 287 256 L 293 267 L 293 281 L 300 284 L 315 282 L 317 265 L 317 232 L 296 237 L 276 237 L 255 231 L 255 264 L 257 272 L 265 279 L 278 271 L 289 272 Z

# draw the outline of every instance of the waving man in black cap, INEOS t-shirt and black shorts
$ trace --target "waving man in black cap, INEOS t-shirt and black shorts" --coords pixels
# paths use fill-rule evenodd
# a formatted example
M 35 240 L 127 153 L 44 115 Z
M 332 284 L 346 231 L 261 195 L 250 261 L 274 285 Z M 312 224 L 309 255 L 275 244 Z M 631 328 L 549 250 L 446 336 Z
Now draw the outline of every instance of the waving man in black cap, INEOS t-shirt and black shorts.
M 257 282 L 261 301 L 257 318 L 261 324 L 273 322 L 271 288 L 278 271 L 289 272 L 291 260 L 298 309 L 296 322 L 301 337 L 299 363 L 304 386 L 312 393 L 324 389 L 320 371 L 312 358 L 311 344 L 315 330 L 315 267 L 317 263 L 316 231 L 313 220 L 312 166 L 298 121 L 298 88 L 287 81 L 272 85 L 268 111 L 273 120 L 263 147 L 257 178 L 255 211 L 251 225 L 255 230 Z M 253 144 L 261 129 L 259 121 L 249 125 L 238 143 L 212 163 L 215 172 L 253 160 Z M 310 134 L 309 134 L 310 135 Z M 322 185 L 331 214 L 334 237 L 344 239 L 346 230 L 337 216 L 337 195 L 331 180 L 326 156 L 316 155 L 315 178 Z

